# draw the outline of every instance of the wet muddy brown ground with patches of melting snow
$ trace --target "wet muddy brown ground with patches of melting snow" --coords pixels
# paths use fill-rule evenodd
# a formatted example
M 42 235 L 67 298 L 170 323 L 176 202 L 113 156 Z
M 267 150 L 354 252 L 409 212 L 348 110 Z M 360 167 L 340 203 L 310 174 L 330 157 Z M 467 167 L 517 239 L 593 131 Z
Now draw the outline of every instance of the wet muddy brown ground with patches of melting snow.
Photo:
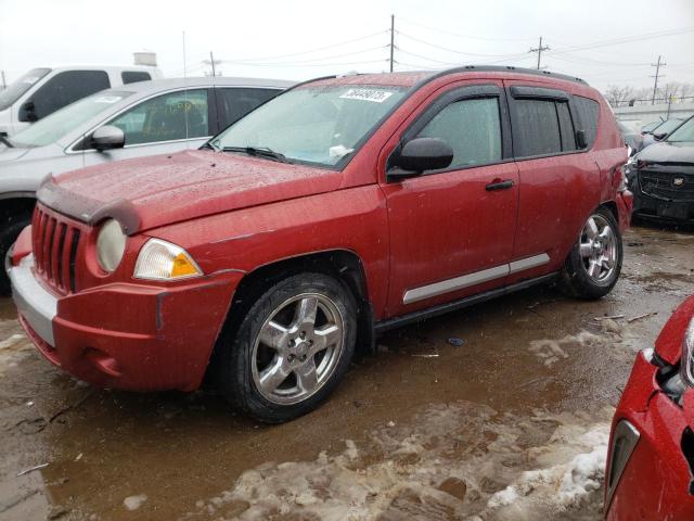
M 0 300 L 0 520 L 601 519 L 633 356 L 694 293 L 694 234 L 625 246 L 604 300 L 534 289 L 394 331 L 277 427 L 209 392 L 79 383 Z

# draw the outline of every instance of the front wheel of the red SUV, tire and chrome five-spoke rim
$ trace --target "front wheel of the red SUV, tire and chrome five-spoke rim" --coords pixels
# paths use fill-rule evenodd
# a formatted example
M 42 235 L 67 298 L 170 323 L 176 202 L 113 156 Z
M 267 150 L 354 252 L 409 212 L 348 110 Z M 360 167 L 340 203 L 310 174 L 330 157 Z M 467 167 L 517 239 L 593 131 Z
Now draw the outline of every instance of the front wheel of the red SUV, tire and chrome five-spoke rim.
M 279 423 L 314 409 L 342 380 L 355 352 L 357 304 L 321 274 L 267 290 L 222 333 L 211 368 L 218 389 L 254 418 Z

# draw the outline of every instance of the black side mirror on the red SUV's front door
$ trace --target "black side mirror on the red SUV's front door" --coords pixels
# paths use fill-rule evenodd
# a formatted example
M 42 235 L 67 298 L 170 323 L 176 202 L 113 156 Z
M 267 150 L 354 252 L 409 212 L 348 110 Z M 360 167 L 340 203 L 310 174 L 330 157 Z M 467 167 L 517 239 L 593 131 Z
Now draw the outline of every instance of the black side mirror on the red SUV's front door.
M 416 177 L 425 170 L 446 168 L 453 161 L 453 149 L 439 138 L 415 138 L 408 141 L 390 160 L 388 180 Z

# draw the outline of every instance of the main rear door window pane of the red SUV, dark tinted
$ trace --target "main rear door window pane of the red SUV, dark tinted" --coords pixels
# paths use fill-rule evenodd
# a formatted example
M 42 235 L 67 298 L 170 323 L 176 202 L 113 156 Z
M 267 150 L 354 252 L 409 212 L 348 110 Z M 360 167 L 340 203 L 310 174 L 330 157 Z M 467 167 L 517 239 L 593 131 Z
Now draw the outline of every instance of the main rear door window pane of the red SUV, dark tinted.
M 514 105 L 520 123 L 513 129 L 515 156 L 561 153 L 562 137 L 554 100 L 522 99 L 515 100 Z

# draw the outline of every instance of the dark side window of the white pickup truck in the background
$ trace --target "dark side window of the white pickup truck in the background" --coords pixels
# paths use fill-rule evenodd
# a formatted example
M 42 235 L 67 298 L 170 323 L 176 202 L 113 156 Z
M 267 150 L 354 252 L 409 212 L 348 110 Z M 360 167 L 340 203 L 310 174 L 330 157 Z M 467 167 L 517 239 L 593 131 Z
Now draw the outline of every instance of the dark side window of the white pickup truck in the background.
M 111 87 L 104 71 L 66 71 L 50 78 L 29 102 L 37 119 L 69 105 L 74 101 Z M 22 118 L 22 116 L 20 116 Z

